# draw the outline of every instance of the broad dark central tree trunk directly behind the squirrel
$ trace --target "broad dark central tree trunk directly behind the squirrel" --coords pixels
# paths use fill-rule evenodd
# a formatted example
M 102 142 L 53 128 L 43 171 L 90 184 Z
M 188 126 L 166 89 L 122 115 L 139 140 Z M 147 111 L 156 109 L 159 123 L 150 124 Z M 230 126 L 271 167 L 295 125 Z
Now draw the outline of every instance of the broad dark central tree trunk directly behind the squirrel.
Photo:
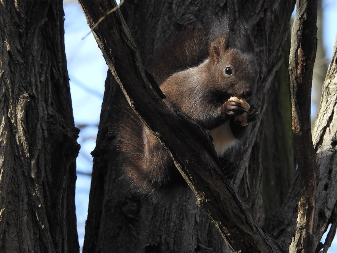
M 249 6 L 231 1 L 222 4 L 203 1 L 128 1 L 123 4 L 122 12 L 145 66 L 157 45 L 164 43 L 176 30 L 208 22 L 205 17 L 209 13 L 221 16 L 228 12 L 230 18 L 244 17 L 255 33 L 259 48 L 261 72 L 255 104 L 263 114 L 271 102 L 268 95 L 276 89 L 273 76 L 280 65 L 279 52 L 288 34 L 293 5 L 293 1 L 256 1 Z M 88 8 L 83 9 L 86 12 Z M 155 199 L 130 193 L 128 184 L 121 179 L 123 161 L 115 148 L 118 142 L 115 125 L 126 111 L 132 125 L 136 115 L 130 114 L 127 101 L 119 87 L 112 85 L 111 75 L 108 74 L 97 146 L 93 152 L 94 170 L 83 252 L 228 251 L 214 225 L 196 206 L 196 198 L 189 189 L 173 189 L 169 195 Z M 232 181 L 235 189 L 249 203 L 256 219 L 263 222 L 263 140 L 259 126 L 260 121 L 251 129 L 251 135 L 244 141 L 241 150 L 228 159 L 235 168 Z M 278 138 L 282 139 L 282 136 Z M 285 148 L 288 146 L 284 145 Z M 288 180 L 285 179 L 285 184 L 289 184 Z

